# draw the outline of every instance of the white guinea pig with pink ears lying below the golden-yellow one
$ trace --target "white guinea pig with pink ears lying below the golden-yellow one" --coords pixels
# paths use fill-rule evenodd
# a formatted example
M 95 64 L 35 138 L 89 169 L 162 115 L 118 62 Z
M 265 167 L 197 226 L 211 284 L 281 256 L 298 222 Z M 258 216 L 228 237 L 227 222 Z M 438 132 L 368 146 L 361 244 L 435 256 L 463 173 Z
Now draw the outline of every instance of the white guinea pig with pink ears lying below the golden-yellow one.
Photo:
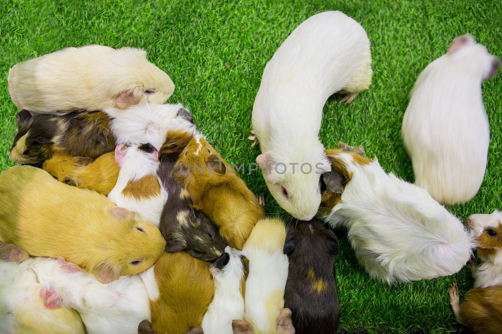
M 140 275 L 120 276 L 101 284 L 62 257 L 37 257 L 33 270 L 45 307 L 78 311 L 88 334 L 135 334 L 143 319 L 150 320 L 150 300 Z

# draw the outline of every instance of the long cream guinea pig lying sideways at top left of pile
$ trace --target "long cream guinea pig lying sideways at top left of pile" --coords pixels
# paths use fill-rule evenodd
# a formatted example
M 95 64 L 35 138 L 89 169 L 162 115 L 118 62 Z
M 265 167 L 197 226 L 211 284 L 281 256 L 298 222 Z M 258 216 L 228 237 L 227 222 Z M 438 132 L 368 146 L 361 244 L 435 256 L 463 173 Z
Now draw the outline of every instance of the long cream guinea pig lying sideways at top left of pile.
M 13 66 L 9 93 L 19 109 L 38 113 L 126 108 L 144 99 L 164 103 L 171 78 L 140 49 L 101 45 L 66 48 Z

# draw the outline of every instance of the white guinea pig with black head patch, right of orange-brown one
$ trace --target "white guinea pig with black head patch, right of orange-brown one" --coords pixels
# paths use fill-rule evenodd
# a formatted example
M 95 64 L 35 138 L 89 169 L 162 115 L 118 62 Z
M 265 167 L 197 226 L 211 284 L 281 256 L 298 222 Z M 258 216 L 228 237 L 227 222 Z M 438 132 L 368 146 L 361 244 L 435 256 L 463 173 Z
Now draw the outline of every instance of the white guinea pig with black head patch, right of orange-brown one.
M 214 299 L 209 305 L 202 329 L 204 334 L 233 334 L 232 320 L 244 315 L 244 289 L 248 260 L 241 251 L 227 246 L 211 266 Z

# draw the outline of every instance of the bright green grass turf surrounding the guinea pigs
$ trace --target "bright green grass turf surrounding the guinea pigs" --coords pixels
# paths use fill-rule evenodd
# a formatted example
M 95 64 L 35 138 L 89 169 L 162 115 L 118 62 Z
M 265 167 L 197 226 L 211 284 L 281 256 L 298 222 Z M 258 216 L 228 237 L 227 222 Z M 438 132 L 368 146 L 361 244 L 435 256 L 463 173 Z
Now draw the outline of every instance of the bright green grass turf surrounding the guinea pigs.
M 413 181 L 400 136 L 409 91 L 419 73 L 444 54 L 456 36 L 469 32 L 492 54 L 502 56 L 500 1 L 4 1 L 0 8 L 0 168 L 13 165 L 8 149 L 17 131 L 17 110 L 7 90 L 9 68 L 86 44 L 145 49 L 150 61 L 175 82 L 169 102 L 189 107 L 199 128 L 228 161 L 252 162 L 259 148 L 251 149 L 246 137 L 264 66 L 295 27 L 327 10 L 343 11 L 361 22 L 371 41 L 374 72 L 370 89 L 349 106 L 339 105 L 338 97 L 328 100 L 320 132 L 323 143 L 333 147 L 341 140 L 363 146 L 386 170 Z M 461 218 L 502 209 L 501 85 L 500 74 L 483 84 L 491 128 L 488 166 L 477 196 L 449 207 Z M 242 177 L 255 193 L 266 196 L 268 213 L 280 211 L 259 172 Z M 472 286 L 466 268 L 451 277 L 388 286 L 370 279 L 358 265 L 344 231 L 337 235 L 342 248 L 336 261 L 340 328 L 455 330 L 447 290 L 452 282 L 457 282 L 461 294 Z

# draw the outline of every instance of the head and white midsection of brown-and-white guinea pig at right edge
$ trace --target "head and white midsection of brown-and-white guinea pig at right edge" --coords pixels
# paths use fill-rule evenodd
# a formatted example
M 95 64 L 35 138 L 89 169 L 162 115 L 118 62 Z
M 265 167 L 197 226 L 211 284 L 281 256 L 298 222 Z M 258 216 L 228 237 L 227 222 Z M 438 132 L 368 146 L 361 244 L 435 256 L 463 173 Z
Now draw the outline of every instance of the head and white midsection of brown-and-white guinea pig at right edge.
M 474 287 L 502 285 L 502 214 L 473 214 L 467 218 L 467 230 L 476 244 L 482 262 L 471 267 Z

